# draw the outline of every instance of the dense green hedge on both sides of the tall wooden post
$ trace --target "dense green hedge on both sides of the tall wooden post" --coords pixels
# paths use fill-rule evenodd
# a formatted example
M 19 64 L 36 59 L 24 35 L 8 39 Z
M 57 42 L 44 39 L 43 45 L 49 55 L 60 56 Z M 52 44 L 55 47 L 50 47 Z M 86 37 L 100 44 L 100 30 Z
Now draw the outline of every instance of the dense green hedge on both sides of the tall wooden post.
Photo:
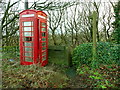
M 86 64 L 91 66 L 92 63 L 100 64 L 120 64 L 118 57 L 118 48 L 120 45 L 115 45 L 109 42 L 97 43 L 97 58 L 92 62 L 92 43 L 81 44 L 73 51 L 73 64 L 78 67 Z

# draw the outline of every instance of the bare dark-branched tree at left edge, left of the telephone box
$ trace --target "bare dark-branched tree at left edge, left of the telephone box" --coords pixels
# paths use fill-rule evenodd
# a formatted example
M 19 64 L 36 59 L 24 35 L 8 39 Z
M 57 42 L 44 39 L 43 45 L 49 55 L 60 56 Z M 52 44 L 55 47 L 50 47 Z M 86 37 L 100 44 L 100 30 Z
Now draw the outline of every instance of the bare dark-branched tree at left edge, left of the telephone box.
M 5 10 L 3 11 L 3 17 L 1 19 L 1 28 L 0 28 L 0 31 L 2 33 L 2 38 L 3 38 L 3 44 L 7 44 L 9 42 L 9 37 L 13 34 L 16 33 L 16 31 L 18 30 L 18 26 L 17 26 L 17 23 L 16 25 L 13 25 L 15 24 L 16 22 L 16 19 L 18 19 L 18 14 L 16 12 L 16 10 L 13 10 L 13 6 L 15 4 L 17 4 L 17 2 L 14 2 L 14 3 L 10 3 L 10 0 L 9 2 L 5 5 Z

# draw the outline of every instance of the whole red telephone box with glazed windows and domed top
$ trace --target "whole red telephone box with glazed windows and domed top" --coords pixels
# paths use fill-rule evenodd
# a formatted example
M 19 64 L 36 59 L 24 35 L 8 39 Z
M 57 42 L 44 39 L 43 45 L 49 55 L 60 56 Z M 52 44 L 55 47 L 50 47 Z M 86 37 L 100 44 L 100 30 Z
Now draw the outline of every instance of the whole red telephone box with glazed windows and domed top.
M 48 63 L 47 15 L 42 11 L 20 13 L 20 64 Z

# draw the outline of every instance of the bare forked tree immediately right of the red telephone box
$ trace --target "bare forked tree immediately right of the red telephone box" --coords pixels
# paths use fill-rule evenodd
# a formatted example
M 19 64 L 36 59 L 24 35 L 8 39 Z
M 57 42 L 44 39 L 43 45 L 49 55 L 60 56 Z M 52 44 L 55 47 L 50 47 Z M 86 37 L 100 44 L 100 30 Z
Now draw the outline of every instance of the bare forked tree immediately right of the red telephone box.
M 58 43 L 56 41 L 56 35 L 60 34 L 59 31 L 61 31 L 61 38 L 64 37 L 63 32 L 62 32 L 63 26 L 61 26 L 61 25 L 63 25 L 62 24 L 64 22 L 63 18 L 65 17 L 64 16 L 64 10 L 66 8 L 74 5 L 74 3 L 73 2 L 58 2 L 58 3 L 53 2 L 51 4 L 52 4 L 51 7 L 54 7 L 54 8 L 47 11 L 48 18 L 49 18 L 48 19 L 49 29 L 51 31 L 53 43 L 54 43 L 54 45 L 57 45 Z M 56 8 L 55 8 L 55 5 L 56 5 Z M 59 31 L 58 31 L 58 29 L 59 29 Z M 65 41 L 65 39 L 64 39 L 64 41 Z M 65 41 L 65 43 L 66 43 L 66 41 Z

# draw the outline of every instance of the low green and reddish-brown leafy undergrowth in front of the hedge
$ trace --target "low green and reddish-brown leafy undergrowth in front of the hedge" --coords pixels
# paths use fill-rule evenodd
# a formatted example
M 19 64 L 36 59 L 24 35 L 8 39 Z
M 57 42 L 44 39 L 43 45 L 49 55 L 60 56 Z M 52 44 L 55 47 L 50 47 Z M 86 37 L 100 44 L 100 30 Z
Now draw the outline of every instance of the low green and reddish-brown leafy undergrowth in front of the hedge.
M 118 82 L 118 68 L 115 65 L 103 65 L 99 69 L 91 69 L 82 65 L 77 68 L 77 74 L 80 78 L 86 78 L 85 84 L 90 88 L 117 88 L 115 84 Z

